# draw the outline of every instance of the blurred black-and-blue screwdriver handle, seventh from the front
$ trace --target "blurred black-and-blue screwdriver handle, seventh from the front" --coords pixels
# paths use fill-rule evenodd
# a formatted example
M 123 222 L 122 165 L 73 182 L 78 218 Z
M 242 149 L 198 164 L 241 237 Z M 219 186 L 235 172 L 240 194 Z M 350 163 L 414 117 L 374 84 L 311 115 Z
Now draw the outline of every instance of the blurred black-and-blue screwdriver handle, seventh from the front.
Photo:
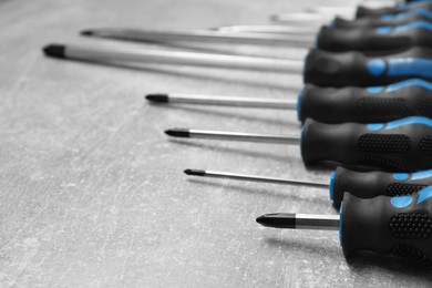
M 399 14 L 384 14 L 382 17 L 363 17 L 354 20 L 347 20 L 344 18 L 336 17 L 330 23 L 330 27 L 358 29 L 358 28 L 373 28 L 373 27 L 395 27 L 403 25 L 414 21 L 431 21 L 432 12 L 422 10 L 422 13 L 404 12 Z

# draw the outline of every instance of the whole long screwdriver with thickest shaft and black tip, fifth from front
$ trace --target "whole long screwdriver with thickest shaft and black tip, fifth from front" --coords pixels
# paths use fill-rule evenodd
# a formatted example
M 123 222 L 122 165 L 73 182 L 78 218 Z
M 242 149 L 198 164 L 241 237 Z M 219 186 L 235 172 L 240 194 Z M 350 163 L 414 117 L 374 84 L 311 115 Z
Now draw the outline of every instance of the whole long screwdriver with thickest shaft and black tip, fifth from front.
M 124 61 L 289 73 L 304 70 L 304 82 L 320 86 L 387 85 L 411 78 L 432 81 L 432 50 L 429 48 L 411 48 L 387 56 L 370 56 L 360 52 L 331 53 L 312 49 L 305 63 L 288 59 L 163 51 L 128 45 L 49 44 L 43 48 L 43 52 L 58 59 L 105 64 Z

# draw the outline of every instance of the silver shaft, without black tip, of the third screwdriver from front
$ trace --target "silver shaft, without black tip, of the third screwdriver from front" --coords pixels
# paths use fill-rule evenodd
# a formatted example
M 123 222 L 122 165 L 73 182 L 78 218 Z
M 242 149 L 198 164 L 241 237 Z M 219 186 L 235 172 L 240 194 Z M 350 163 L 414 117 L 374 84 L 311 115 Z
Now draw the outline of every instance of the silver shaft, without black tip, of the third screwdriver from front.
M 269 134 L 254 134 L 239 132 L 223 132 L 210 130 L 189 130 L 191 138 L 228 140 L 244 142 L 259 142 L 274 144 L 300 144 L 299 137 L 277 136 Z

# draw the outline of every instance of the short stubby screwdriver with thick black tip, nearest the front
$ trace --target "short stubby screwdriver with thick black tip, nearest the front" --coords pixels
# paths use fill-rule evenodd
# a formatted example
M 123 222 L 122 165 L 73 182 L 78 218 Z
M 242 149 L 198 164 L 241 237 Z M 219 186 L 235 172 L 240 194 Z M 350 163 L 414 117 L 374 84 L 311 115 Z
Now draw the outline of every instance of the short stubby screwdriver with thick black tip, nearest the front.
M 344 256 L 370 250 L 432 265 L 432 187 L 410 196 L 362 199 L 344 194 L 340 215 L 274 213 L 259 216 L 263 226 L 339 230 Z

